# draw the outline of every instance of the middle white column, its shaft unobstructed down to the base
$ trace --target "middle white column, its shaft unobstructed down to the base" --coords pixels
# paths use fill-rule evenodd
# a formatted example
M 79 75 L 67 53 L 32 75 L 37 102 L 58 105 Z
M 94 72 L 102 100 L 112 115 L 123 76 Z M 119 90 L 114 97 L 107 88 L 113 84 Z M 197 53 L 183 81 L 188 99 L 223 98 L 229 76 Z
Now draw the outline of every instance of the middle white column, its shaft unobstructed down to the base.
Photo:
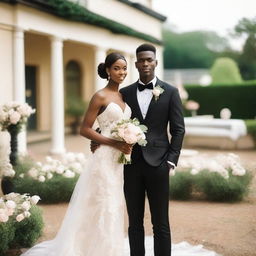
M 63 81 L 63 41 L 51 38 L 51 153 L 65 152 L 64 146 L 64 81 Z

